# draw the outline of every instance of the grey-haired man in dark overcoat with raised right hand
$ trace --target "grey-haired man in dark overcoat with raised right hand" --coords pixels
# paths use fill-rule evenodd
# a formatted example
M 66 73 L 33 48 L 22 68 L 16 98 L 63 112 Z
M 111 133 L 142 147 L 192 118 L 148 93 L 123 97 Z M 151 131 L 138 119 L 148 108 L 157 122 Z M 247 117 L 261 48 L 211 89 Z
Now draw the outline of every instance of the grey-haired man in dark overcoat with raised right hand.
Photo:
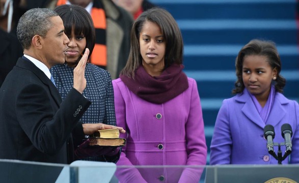
M 0 159 L 70 163 L 73 147 L 85 135 L 113 127 L 78 122 L 91 104 L 82 95 L 89 50 L 74 69 L 73 88 L 62 101 L 49 72 L 65 62 L 69 39 L 62 19 L 50 9 L 31 9 L 20 18 L 17 36 L 24 55 L 0 88 Z

